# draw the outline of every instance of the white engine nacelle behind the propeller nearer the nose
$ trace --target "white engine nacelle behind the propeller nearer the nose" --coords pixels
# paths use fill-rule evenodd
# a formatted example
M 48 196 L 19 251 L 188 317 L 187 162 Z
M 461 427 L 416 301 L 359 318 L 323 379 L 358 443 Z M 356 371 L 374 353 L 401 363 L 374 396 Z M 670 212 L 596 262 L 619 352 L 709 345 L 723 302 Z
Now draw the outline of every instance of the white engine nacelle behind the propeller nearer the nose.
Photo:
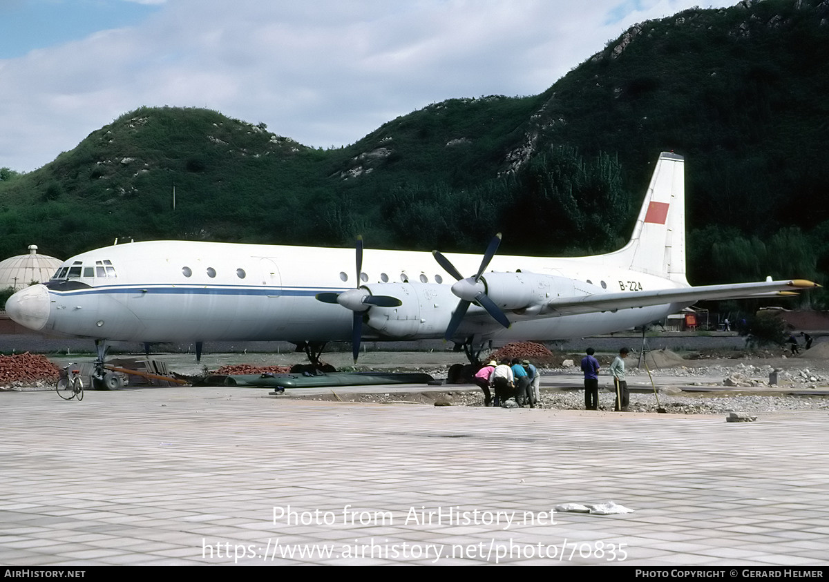
M 423 283 L 379 283 L 364 285 L 374 295 L 400 299 L 395 308 L 373 306 L 367 325 L 385 337 L 443 337 L 458 298 L 448 285 Z

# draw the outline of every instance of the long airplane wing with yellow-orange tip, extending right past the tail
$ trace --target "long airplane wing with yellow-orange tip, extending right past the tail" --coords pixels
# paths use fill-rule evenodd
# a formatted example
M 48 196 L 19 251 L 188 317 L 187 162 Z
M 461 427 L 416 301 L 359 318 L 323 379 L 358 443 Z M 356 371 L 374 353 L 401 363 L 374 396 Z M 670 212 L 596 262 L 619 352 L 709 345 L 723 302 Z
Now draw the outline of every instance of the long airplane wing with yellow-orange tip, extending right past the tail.
M 703 299 L 744 299 L 797 295 L 802 289 L 820 287 L 805 279 L 788 281 L 763 281 L 760 283 L 739 283 L 725 285 L 704 285 L 658 291 L 627 291 L 624 293 L 594 293 L 582 297 L 556 298 L 546 305 L 547 313 L 542 317 L 574 315 L 616 311 L 625 308 L 647 307 L 663 303 L 684 303 L 691 305 Z

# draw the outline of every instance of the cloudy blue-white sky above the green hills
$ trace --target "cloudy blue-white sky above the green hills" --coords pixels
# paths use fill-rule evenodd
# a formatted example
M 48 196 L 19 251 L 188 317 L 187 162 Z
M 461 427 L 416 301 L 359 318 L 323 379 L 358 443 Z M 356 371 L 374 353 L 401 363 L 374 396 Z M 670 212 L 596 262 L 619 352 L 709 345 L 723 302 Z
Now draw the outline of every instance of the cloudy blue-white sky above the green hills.
M 0 0 L 0 167 L 31 172 L 143 105 L 313 148 L 482 95 L 537 95 L 700 0 Z

